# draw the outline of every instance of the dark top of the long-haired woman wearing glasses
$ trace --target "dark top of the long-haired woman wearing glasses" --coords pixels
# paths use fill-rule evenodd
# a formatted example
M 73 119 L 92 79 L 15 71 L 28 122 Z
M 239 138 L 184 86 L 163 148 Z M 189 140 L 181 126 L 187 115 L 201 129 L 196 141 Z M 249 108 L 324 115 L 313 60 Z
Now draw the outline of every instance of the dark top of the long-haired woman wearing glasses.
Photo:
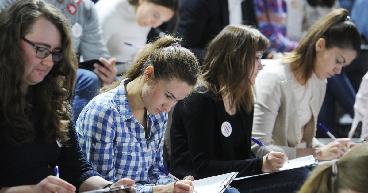
M 0 117 L 3 116 L 1 114 Z M 60 178 L 74 185 L 77 190 L 87 178 L 100 176 L 83 156 L 73 121 L 70 121 L 68 128 L 70 140 L 61 148 L 56 141 L 52 144 L 43 142 L 39 125 L 40 121 L 35 121 L 35 139 L 32 143 L 12 147 L 4 141 L 0 142 L 0 189 L 35 185 L 47 176 L 54 175 L 56 165 Z

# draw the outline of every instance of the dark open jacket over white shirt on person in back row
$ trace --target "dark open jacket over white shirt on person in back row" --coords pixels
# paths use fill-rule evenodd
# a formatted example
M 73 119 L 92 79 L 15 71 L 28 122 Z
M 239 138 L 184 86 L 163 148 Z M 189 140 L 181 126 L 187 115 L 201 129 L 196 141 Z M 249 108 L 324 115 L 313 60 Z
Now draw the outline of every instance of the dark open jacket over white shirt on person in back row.
M 243 24 L 258 25 L 252 0 L 241 4 Z M 201 60 L 204 48 L 229 25 L 227 0 L 182 0 L 177 32 L 183 36 L 181 44 L 190 48 Z M 172 27 L 170 26 L 170 29 Z

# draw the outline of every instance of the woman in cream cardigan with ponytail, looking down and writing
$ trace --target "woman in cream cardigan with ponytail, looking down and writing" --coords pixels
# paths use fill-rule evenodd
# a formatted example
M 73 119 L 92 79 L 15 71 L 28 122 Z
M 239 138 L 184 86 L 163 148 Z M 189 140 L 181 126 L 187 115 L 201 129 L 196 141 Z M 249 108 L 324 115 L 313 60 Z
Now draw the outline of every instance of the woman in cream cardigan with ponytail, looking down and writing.
M 289 159 L 314 155 L 318 160 L 339 158 L 349 139 L 323 145 L 314 137 L 317 117 L 326 93 L 326 78 L 360 52 L 360 33 L 344 9 L 322 19 L 299 46 L 267 65 L 255 82 L 252 136 Z M 268 152 L 252 145 L 256 156 Z

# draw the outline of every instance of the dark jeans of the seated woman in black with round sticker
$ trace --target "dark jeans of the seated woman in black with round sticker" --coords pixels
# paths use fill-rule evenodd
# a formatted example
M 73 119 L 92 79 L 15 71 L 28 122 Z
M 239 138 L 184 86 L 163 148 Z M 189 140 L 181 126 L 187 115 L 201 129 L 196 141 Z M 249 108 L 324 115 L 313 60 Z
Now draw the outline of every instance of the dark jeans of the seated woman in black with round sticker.
M 311 172 L 307 168 L 290 169 L 231 182 L 241 193 L 297 192 Z M 239 176 L 240 177 L 240 176 Z

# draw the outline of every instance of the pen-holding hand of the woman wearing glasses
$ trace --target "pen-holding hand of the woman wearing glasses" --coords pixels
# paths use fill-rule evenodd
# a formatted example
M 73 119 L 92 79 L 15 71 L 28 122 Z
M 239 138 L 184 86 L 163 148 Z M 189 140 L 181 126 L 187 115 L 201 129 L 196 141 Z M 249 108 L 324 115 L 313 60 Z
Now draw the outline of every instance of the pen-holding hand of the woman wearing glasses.
M 74 193 L 75 191 L 77 191 L 77 188 L 61 178 L 57 178 L 56 176 L 47 176 L 41 182 L 36 184 L 33 187 L 33 190 L 35 193 Z

